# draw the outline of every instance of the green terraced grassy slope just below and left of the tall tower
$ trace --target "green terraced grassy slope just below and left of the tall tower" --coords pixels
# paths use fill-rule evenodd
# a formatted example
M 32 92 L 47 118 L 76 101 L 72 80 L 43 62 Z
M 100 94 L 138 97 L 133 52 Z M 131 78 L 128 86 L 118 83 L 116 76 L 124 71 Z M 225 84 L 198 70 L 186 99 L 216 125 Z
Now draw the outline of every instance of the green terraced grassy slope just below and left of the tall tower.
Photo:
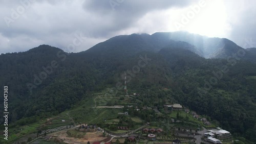
M 70 110 L 69 114 L 73 117 L 75 123 L 89 123 L 97 124 L 103 122 L 106 119 L 105 123 L 118 123 L 119 119 L 117 116 L 119 112 L 123 112 L 120 109 L 105 109 L 105 108 L 95 108 L 95 106 L 106 106 L 107 104 L 112 105 L 123 105 L 123 104 L 132 104 L 131 99 L 124 97 L 124 100 L 119 100 L 123 95 L 118 95 L 114 93 L 111 89 L 105 89 L 100 92 L 93 93 L 93 98 L 82 100 L 78 108 L 75 110 Z M 115 103 L 116 102 L 116 103 Z M 131 117 L 132 120 L 136 123 L 141 123 L 142 120 L 138 117 Z

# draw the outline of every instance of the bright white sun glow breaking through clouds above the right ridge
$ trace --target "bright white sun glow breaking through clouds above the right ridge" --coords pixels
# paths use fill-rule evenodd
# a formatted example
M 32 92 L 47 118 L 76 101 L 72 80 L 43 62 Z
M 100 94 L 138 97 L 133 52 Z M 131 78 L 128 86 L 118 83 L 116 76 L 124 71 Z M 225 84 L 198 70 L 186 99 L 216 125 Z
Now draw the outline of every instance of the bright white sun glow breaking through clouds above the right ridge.
M 197 9 L 197 11 L 193 10 L 193 7 L 198 8 L 198 6 L 199 4 L 196 3 L 185 9 L 173 10 L 172 13 L 175 14 L 170 17 L 175 19 L 175 21 L 171 21 L 174 25 L 168 29 L 170 31 L 183 30 L 208 37 L 227 37 L 226 34 L 230 31 L 230 26 L 227 23 L 224 3 L 220 0 L 206 0 L 204 7 L 200 7 L 200 10 Z M 188 22 L 184 22 L 186 21 L 184 17 L 188 19 Z M 180 26 L 180 29 L 177 29 L 177 25 Z

